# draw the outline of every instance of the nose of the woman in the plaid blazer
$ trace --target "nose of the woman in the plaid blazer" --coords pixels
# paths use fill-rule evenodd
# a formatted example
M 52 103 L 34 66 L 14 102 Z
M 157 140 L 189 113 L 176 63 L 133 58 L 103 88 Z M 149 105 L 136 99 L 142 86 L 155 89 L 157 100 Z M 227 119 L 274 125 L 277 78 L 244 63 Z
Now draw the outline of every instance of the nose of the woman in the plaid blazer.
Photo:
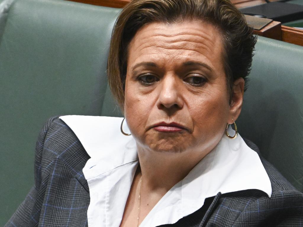
M 181 87 L 178 78 L 174 76 L 164 76 L 158 88 L 157 106 L 159 109 L 178 110 L 183 107 Z

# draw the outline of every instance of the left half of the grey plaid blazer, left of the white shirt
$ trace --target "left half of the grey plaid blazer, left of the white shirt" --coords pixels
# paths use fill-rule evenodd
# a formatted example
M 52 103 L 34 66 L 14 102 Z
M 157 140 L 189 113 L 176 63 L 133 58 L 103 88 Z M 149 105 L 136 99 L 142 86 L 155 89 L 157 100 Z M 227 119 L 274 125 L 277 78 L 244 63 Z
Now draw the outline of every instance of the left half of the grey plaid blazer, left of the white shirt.
M 70 216 L 70 226 L 87 225 L 90 200 L 82 169 L 88 159 L 70 127 L 58 116 L 48 119 L 36 143 L 35 185 L 8 226 L 63 226 Z

